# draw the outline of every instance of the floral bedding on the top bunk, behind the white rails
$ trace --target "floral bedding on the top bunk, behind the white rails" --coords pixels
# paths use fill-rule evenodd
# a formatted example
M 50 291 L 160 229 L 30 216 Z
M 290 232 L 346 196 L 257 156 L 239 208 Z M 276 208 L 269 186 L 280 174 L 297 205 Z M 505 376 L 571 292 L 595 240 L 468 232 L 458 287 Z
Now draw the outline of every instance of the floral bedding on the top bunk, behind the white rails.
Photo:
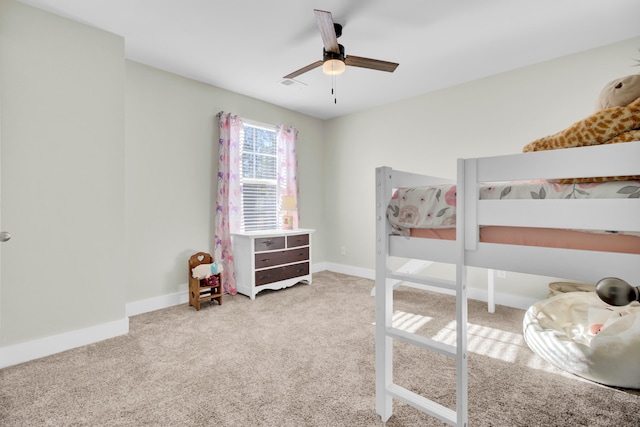
M 487 183 L 480 199 L 614 199 L 640 198 L 640 181 L 560 184 L 551 181 Z M 456 226 L 455 184 L 400 188 L 387 207 L 387 218 L 396 234 L 411 228 Z M 633 233 L 635 234 L 635 233 Z

